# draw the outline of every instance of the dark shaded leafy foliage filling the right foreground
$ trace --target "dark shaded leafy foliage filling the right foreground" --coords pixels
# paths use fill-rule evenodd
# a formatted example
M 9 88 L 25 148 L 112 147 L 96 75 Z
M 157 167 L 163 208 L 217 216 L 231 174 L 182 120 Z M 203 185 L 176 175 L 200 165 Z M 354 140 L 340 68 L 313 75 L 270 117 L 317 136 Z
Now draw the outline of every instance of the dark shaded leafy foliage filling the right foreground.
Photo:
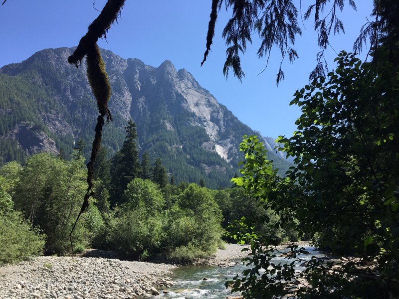
M 341 52 L 335 71 L 295 93 L 298 130 L 279 140 L 295 157 L 284 180 L 256 137 L 241 144 L 242 177 L 233 181 L 280 216 L 276 227 L 289 225 L 317 247 L 351 256 L 312 258 L 298 274 L 303 249 L 292 245 L 287 264 L 273 264 L 273 238 L 253 234 L 252 270 L 233 288 L 245 298 L 399 297 L 399 73 L 390 59 L 398 56 L 384 45 L 373 55 L 362 63 Z

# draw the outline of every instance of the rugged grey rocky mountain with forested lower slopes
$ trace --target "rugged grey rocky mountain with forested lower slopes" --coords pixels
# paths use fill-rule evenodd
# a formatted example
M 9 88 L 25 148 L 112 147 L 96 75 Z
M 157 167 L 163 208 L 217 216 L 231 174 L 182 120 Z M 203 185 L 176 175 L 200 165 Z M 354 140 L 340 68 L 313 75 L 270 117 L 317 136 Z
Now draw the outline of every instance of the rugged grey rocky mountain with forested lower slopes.
M 23 161 L 38 151 L 71 155 L 74 144 L 94 136 L 96 103 L 85 62 L 67 63 L 74 48 L 45 49 L 0 68 L 0 162 Z M 120 149 L 124 126 L 136 122 L 140 154 L 161 157 L 177 182 L 205 179 L 208 187 L 230 185 L 242 159 L 242 136 L 258 135 L 241 123 L 185 69 L 166 60 L 159 67 L 101 50 L 108 72 L 114 121 L 104 127 L 110 155 Z M 284 173 L 291 165 L 262 138 L 269 158 Z M 90 146 L 86 147 L 88 156 Z

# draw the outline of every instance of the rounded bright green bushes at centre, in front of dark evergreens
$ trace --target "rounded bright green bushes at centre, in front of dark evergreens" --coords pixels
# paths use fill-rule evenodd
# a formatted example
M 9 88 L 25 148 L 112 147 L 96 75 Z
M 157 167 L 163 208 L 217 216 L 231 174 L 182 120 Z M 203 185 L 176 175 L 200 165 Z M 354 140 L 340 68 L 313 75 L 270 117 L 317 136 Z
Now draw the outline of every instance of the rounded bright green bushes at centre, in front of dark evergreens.
M 223 230 L 213 193 L 196 184 L 188 185 L 180 194 L 175 191 L 169 200 L 174 204 L 165 209 L 157 184 L 132 180 L 124 192 L 124 204 L 110 217 L 109 246 L 140 259 L 166 253 L 167 258 L 179 263 L 215 252 Z

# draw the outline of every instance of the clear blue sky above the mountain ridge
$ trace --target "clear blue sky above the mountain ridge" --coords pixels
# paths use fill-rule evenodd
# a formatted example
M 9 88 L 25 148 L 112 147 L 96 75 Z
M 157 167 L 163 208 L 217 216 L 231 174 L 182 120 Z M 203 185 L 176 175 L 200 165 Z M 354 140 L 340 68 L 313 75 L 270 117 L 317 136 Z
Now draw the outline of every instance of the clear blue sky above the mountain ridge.
M 96 0 L 94 6 L 101 10 L 105 2 Z M 312 2 L 302 0 L 302 11 Z M 337 52 L 352 50 L 361 26 L 371 13 L 372 0 L 355 2 L 357 11 L 345 1 L 344 12 L 339 14 L 346 34 L 331 39 Z M 279 52 L 272 53 L 268 68 L 258 75 L 265 60 L 256 56 L 258 40 L 254 34 L 254 43 L 242 59 L 245 78 L 241 84 L 232 72 L 227 80 L 222 74 L 225 45 L 221 31 L 228 16 L 224 10 L 216 23 L 212 51 L 200 67 L 210 3 L 211 0 L 127 0 L 119 23 L 109 30 L 107 41 L 100 40 L 98 44 L 123 58 L 138 58 L 155 67 L 169 59 L 177 69 L 191 72 L 217 101 L 263 136 L 291 136 L 300 110 L 289 106 L 289 102 L 295 90 L 308 83 L 319 51 L 312 21 L 302 25 L 303 35 L 294 47 L 299 59 L 293 65 L 288 60 L 283 64 L 285 81 L 279 87 L 275 82 Z M 0 67 L 20 62 L 44 48 L 76 46 L 99 14 L 92 5 L 93 0 L 7 0 L 0 5 Z M 334 67 L 335 56 L 334 50 L 328 49 L 330 68 Z

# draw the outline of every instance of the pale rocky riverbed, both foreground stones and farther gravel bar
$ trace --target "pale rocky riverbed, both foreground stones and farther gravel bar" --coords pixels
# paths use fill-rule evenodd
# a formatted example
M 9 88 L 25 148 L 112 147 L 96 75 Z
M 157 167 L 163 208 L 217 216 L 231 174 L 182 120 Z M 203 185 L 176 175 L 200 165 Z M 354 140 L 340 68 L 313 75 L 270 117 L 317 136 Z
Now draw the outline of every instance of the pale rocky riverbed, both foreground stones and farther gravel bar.
M 226 244 L 224 250 L 195 265 L 232 267 L 247 255 L 243 248 Z M 91 251 L 87 257 L 43 256 L 1 267 L 0 299 L 145 298 L 167 293 L 176 284 L 171 272 L 176 265 L 121 261 L 114 254 Z

